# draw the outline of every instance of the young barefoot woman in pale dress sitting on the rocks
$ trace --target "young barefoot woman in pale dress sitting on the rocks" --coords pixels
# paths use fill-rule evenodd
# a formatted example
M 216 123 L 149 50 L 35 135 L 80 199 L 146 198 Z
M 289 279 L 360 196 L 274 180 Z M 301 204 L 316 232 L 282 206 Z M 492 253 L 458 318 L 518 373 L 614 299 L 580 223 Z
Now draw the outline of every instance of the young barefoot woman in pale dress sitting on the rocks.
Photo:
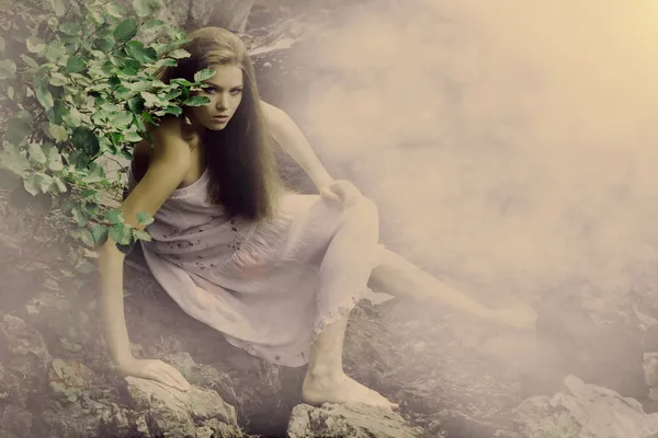
M 259 99 L 253 66 L 241 41 L 204 27 L 183 46 L 191 57 L 159 77 L 191 80 L 214 69 L 211 103 L 151 127 L 154 148 L 137 145 L 126 222 L 148 211 L 144 242 L 155 278 L 191 316 L 232 345 L 275 364 L 308 364 L 306 403 L 365 403 L 396 407 L 342 369 L 348 314 L 374 286 L 394 296 L 449 304 L 515 327 L 532 326 L 527 308 L 491 310 L 450 289 L 378 243 L 377 208 L 347 181 L 334 181 L 298 127 Z M 310 175 L 319 195 L 281 183 L 272 141 Z M 131 353 L 123 309 L 124 255 L 112 240 L 100 250 L 101 312 L 120 372 L 185 390 L 189 383 L 159 360 Z

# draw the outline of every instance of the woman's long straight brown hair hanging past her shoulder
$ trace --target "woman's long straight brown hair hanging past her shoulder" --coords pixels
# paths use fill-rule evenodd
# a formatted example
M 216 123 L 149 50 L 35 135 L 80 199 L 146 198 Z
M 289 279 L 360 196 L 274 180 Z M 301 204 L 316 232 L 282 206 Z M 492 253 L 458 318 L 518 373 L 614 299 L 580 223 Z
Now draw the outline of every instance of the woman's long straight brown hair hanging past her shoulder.
M 191 56 L 156 73 L 164 83 L 174 78 L 193 81 L 196 71 L 215 66 L 241 68 L 245 87 L 236 113 L 224 129 L 205 129 L 202 138 L 211 176 L 209 195 L 230 217 L 272 218 L 283 185 L 245 44 L 222 27 L 202 27 L 191 32 L 188 41 L 177 48 L 188 50 Z

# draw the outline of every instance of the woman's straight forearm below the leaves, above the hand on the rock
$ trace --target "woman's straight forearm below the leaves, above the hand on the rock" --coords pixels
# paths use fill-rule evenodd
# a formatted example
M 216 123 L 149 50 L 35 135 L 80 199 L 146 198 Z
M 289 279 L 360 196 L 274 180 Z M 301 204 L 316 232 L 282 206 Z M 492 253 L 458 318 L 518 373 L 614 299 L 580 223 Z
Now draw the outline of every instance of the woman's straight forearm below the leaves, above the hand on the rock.
M 110 356 L 114 364 L 118 365 L 133 358 L 124 314 L 123 263 L 125 256 L 110 239 L 99 253 L 101 324 Z

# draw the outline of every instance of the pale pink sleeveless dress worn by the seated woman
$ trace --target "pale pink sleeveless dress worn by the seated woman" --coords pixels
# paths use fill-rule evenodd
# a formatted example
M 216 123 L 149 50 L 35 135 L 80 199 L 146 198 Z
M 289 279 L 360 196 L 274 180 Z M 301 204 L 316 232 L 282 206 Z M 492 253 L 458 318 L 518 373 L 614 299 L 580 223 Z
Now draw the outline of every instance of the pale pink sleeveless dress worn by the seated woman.
M 316 336 L 368 293 L 383 246 L 345 254 L 347 274 L 320 288 L 320 264 L 349 208 L 285 192 L 274 219 L 229 219 L 211 201 L 209 180 L 206 170 L 156 212 L 152 241 L 141 241 L 150 272 L 185 313 L 234 346 L 279 365 L 307 364 Z

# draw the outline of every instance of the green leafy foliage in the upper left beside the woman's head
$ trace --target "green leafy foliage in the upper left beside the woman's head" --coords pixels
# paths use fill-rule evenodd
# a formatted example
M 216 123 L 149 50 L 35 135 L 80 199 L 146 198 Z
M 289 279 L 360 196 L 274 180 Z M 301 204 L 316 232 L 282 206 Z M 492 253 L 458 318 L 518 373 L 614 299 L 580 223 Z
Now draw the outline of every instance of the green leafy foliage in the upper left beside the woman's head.
M 150 141 L 147 123 L 207 104 L 192 91 L 213 70 L 197 72 L 194 82 L 156 78 L 190 56 L 181 48 L 185 33 L 154 18 L 161 0 L 133 0 L 132 8 L 106 0 L 0 4 L 7 11 L 0 18 L 1 180 L 18 182 L 12 199 L 38 201 L 46 216 L 63 218 L 59 229 L 79 243 L 69 254 L 77 268 L 89 266 L 89 249 L 107 237 L 128 253 L 150 237 L 117 209 L 121 162 L 135 142 Z M 114 177 L 109 163 L 120 164 Z M 141 212 L 137 221 L 152 218 Z

